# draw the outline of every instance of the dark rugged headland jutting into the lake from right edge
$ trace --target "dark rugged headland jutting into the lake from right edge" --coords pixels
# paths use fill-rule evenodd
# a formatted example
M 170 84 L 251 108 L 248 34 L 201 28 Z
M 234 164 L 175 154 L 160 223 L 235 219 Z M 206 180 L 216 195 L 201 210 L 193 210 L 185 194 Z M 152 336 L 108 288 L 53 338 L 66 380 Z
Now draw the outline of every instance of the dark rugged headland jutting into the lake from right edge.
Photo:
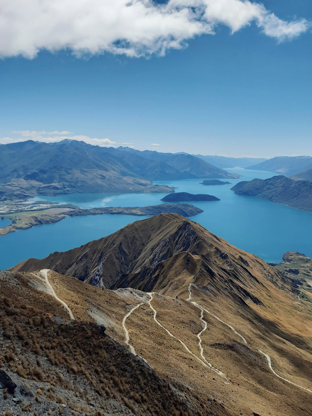
M 231 189 L 238 195 L 258 196 L 312 212 L 312 182 L 273 176 L 269 179 L 242 181 Z

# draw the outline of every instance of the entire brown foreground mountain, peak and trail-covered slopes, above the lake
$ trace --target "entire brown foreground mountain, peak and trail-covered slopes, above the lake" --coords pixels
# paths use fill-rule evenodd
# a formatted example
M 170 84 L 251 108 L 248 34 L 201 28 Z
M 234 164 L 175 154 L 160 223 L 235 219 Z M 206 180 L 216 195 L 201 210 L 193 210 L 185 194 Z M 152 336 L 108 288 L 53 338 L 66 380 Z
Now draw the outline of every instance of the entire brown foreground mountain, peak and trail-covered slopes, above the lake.
M 144 416 L 308 415 L 311 316 L 301 299 L 260 258 L 160 214 L 0 272 L 1 369 L 40 395 L 28 409 L 43 403 L 52 414 L 57 402 L 87 401 L 94 415 L 128 414 L 122 406 Z M 53 390 L 42 389 L 49 379 Z M 14 404 L 12 394 L 0 403 Z

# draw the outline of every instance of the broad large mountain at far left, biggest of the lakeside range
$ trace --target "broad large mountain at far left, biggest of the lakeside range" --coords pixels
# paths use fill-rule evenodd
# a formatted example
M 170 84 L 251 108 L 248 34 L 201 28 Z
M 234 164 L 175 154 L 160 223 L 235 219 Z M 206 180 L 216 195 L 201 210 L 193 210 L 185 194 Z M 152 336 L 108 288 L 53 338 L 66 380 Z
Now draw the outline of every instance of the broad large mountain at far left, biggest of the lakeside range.
M 76 192 L 172 192 L 142 178 L 139 169 L 99 146 L 27 141 L 0 146 L 0 199 Z M 146 161 L 146 170 L 161 170 Z M 170 172 L 171 174 L 171 172 Z

